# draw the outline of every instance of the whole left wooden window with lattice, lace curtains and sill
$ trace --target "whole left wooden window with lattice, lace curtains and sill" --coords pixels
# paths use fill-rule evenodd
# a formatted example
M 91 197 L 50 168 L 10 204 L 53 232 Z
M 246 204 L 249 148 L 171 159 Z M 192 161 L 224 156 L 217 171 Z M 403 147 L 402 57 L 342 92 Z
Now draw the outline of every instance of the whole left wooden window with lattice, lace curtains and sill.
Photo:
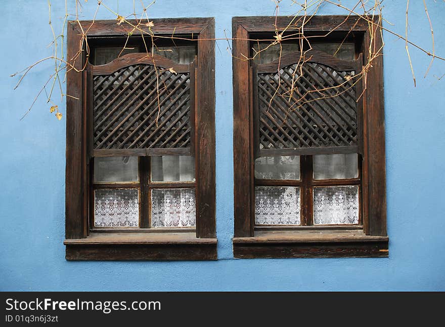
M 153 23 L 68 25 L 68 260 L 216 259 L 214 20 Z

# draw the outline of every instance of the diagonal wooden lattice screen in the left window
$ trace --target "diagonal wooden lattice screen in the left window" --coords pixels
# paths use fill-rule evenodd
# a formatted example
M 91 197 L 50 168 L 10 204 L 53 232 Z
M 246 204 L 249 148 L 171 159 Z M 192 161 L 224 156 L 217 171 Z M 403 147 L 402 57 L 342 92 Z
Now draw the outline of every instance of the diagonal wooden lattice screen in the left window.
M 190 147 L 190 73 L 136 64 L 94 76 L 93 93 L 95 149 Z

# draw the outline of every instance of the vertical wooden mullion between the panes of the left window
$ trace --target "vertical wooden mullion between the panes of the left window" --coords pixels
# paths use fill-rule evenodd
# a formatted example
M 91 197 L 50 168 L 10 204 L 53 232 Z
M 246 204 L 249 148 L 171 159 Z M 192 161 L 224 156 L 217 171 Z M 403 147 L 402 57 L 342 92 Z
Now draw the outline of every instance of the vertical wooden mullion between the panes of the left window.
M 141 228 L 150 227 L 150 207 L 151 200 L 149 194 L 150 186 L 150 172 L 151 172 L 151 157 L 139 157 L 139 181 L 140 181 L 140 213 L 139 226 Z

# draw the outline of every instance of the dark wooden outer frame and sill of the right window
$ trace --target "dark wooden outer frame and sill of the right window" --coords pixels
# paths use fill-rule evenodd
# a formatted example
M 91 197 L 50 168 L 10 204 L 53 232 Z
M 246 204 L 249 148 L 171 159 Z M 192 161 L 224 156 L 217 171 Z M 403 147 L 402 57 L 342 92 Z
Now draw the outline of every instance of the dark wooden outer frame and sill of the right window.
M 383 56 L 367 72 L 363 96 L 363 162 L 361 174 L 363 225 L 297 226 L 294 228 L 254 226 L 253 90 L 249 78 L 249 38 L 261 32 L 273 33 L 287 27 L 292 17 L 234 17 L 234 238 L 235 258 L 298 257 L 387 257 L 385 133 L 383 108 Z M 301 21 L 296 19 L 294 21 Z M 360 52 L 366 63 L 371 32 L 380 35 L 378 20 L 368 24 L 357 16 L 314 16 L 305 32 L 327 33 L 332 29 L 362 35 Z M 297 26 L 297 25 L 296 25 Z M 372 28 L 373 30 L 370 30 Z M 296 28 L 288 28 L 293 31 Z M 381 54 L 382 40 L 374 49 Z M 380 50 L 379 50 L 380 49 Z M 363 226 L 363 227 L 362 227 Z

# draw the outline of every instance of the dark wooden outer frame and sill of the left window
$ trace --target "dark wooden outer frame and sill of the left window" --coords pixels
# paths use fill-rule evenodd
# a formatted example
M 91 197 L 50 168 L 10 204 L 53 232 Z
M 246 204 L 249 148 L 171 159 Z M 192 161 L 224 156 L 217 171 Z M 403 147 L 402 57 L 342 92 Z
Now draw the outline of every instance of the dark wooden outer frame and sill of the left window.
M 135 20 L 129 20 L 136 24 Z M 66 113 L 66 210 L 65 241 L 67 260 L 215 260 L 215 92 L 214 18 L 153 19 L 155 35 L 197 35 L 195 110 L 196 228 L 146 228 L 144 231 L 92 231 L 88 198 L 91 163 L 88 157 L 88 103 L 86 70 L 67 72 Z M 67 31 L 67 58 L 78 70 L 85 65 L 85 53 L 76 60 L 82 29 L 89 39 L 125 37 L 128 28 L 115 20 L 70 21 Z M 92 26 L 91 26 L 92 25 Z M 91 27 L 90 27 L 91 26 Z M 148 27 L 142 27 L 147 28 Z M 148 34 L 147 34 L 148 36 Z M 195 41 L 194 41 L 195 42 Z M 77 98 L 77 99 L 76 99 Z M 147 160 L 142 160 L 147 161 Z M 141 182 L 141 181 L 140 181 Z M 155 184 L 155 183 L 153 183 Z M 161 185 L 158 183 L 157 185 Z M 171 184 L 172 185 L 172 184 Z M 171 186 L 169 185 L 169 186 Z M 147 186 L 148 187 L 148 186 Z M 143 226 L 142 226 L 143 227 Z

